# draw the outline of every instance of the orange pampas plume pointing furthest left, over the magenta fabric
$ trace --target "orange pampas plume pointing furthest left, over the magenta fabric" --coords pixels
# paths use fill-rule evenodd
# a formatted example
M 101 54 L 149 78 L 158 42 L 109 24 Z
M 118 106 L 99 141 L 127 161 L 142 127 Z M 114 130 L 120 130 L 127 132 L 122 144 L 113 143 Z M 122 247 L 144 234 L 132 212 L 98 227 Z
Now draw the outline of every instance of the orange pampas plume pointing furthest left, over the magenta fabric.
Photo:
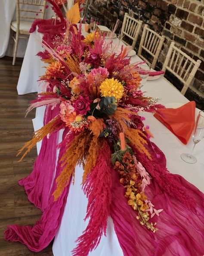
M 32 140 L 26 142 L 22 149 L 19 150 L 19 153 L 16 157 L 18 157 L 19 154 L 21 154 L 22 151 L 27 148 L 19 162 L 23 160 L 23 158 L 28 154 L 28 152 L 31 151 L 31 149 L 37 144 L 37 142 L 41 141 L 47 134 L 52 134 L 54 131 L 58 131 L 60 128 L 62 128 L 62 120 L 60 116 L 57 115 L 55 118 L 49 121 L 49 123 L 37 130 Z

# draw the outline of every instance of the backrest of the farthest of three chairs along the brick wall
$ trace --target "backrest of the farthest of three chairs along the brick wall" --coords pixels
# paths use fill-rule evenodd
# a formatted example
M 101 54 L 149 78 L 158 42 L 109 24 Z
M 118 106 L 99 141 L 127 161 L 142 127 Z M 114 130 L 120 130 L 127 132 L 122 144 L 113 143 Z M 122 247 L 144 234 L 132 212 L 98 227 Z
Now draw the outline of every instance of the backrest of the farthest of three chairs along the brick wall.
M 141 27 L 142 27 L 141 20 L 136 20 L 133 17 L 130 17 L 127 13 L 125 13 L 123 25 L 121 29 L 122 41 L 124 42 L 123 37 L 124 35 L 126 35 L 127 37 L 133 40 L 132 46 L 134 49 Z M 124 43 L 127 44 L 127 42 L 124 42 Z

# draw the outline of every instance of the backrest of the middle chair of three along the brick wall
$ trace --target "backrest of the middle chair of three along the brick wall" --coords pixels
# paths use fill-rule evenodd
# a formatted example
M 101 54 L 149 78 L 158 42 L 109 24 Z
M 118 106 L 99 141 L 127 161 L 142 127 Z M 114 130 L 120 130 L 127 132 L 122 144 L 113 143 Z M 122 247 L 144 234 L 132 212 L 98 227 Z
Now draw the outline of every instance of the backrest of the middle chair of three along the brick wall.
M 145 24 L 142 32 L 141 41 L 139 43 L 139 51 L 137 55 L 143 60 L 145 60 L 148 64 L 150 64 L 151 68 L 153 69 L 157 64 L 164 40 L 164 35 L 159 35 L 154 30 L 149 29 L 148 25 Z M 142 55 L 142 50 L 146 51 L 149 55 L 153 57 L 152 63 Z

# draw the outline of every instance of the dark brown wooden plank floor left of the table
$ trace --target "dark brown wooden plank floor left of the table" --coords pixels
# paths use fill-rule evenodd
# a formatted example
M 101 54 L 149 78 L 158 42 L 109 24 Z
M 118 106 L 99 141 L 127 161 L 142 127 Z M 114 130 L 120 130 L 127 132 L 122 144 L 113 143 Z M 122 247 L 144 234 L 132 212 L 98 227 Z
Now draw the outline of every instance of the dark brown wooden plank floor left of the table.
M 32 171 L 37 156 L 36 148 L 18 163 L 15 157 L 23 144 L 33 135 L 32 111 L 25 118 L 28 102 L 35 93 L 19 96 L 16 86 L 22 59 L 12 66 L 12 58 L 0 58 L 0 256 L 52 256 L 52 245 L 40 253 L 28 250 L 19 242 L 6 242 L 4 230 L 7 225 L 32 225 L 40 218 L 41 211 L 32 205 L 24 188 L 17 181 Z

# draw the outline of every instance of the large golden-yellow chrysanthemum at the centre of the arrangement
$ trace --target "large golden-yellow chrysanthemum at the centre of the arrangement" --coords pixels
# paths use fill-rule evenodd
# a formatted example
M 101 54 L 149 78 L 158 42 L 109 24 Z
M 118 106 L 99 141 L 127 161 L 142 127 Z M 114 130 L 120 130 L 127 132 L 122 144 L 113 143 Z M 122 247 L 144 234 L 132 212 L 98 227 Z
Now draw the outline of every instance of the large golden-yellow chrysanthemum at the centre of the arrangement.
M 100 92 L 102 97 L 114 96 L 119 100 L 123 96 L 124 87 L 117 79 L 105 79 L 100 85 Z

